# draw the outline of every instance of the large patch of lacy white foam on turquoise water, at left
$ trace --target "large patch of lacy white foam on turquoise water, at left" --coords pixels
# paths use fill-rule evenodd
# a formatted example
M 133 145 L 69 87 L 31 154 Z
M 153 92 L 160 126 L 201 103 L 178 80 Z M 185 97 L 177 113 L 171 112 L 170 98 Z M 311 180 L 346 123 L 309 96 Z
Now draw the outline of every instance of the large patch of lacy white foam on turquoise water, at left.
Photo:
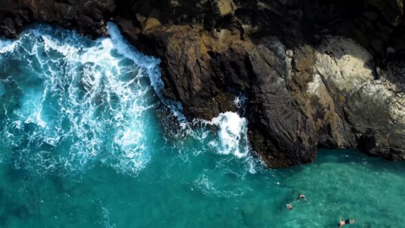
M 102 162 L 136 174 L 148 163 L 152 105 L 142 78 L 162 87 L 159 60 L 130 48 L 115 25 L 108 30 L 111 38 L 91 41 L 39 26 L 1 41 L 1 140 L 16 166 L 60 172 Z

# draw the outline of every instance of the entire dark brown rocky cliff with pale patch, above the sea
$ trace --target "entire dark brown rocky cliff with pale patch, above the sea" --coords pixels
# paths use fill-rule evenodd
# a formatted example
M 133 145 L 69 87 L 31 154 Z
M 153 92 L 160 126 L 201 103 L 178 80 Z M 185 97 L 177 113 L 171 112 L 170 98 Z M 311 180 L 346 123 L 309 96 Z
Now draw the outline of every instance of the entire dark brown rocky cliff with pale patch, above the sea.
M 115 21 L 161 58 L 167 98 L 211 119 L 248 98 L 248 136 L 270 167 L 319 147 L 405 159 L 402 0 L 0 0 L 0 34 L 45 21 L 93 37 Z

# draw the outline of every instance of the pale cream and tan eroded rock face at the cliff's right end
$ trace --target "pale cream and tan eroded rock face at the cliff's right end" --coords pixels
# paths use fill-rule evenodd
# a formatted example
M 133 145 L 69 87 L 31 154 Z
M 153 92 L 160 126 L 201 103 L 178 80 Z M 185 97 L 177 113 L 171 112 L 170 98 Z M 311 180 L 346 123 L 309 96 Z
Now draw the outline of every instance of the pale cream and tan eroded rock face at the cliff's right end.
M 319 45 L 308 93 L 324 110 L 333 107 L 323 122 L 338 147 L 405 158 L 404 70 L 397 62 L 373 71 L 371 54 L 347 38 L 326 38 Z

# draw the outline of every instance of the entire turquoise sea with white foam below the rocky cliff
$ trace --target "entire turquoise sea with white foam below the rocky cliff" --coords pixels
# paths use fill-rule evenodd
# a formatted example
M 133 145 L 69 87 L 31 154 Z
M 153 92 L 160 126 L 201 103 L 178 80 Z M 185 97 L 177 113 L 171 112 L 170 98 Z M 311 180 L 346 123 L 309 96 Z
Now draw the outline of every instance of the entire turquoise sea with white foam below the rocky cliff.
M 0 227 L 405 227 L 405 163 L 321 150 L 268 170 L 240 113 L 185 121 L 159 60 L 108 31 L 0 40 Z

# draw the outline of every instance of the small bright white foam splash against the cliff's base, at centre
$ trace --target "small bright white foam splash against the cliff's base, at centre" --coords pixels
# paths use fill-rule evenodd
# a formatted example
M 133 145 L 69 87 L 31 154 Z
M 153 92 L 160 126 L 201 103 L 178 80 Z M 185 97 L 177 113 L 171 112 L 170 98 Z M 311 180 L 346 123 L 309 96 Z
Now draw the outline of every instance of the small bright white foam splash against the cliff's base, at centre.
M 241 106 L 243 103 L 241 104 Z M 242 109 L 241 109 L 242 110 Z M 206 145 L 205 150 L 196 150 L 194 156 L 200 155 L 203 151 L 211 151 L 218 155 L 217 168 L 224 168 L 229 163 L 233 163 L 238 168 L 238 173 L 242 176 L 248 173 L 256 173 L 263 168 L 263 163 L 253 157 L 253 150 L 248 141 L 248 121 L 238 113 L 220 113 L 213 119 L 193 119 L 192 122 L 182 122 L 179 130 L 173 132 L 176 139 L 181 139 L 179 151 L 187 141 L 187 137 L 192 137 L 201 144 Z M 176 140 L 178 141 L 178 140 Z M 207 150 L 208 149 L 208 150 Z M 187 160 L 187 158 L 186 158 Z

